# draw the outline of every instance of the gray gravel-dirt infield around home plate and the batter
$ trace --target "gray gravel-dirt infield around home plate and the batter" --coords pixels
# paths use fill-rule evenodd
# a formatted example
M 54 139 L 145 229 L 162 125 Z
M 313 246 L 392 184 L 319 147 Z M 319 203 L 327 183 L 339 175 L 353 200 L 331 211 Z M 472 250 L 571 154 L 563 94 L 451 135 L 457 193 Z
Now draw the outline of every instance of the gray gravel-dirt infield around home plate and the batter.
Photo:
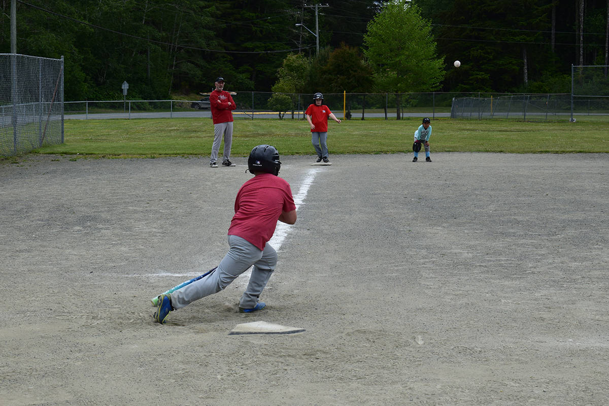
M 247 159 L 0 163 L 0 403 L 606 405 L 609 157 L 283 157 L 313 178 L 265 290 L 153 323 L 217 265 Z M 301 327 L 228 335 L 236 324 Z M 4 402 L 4 403 L 3 403 Z

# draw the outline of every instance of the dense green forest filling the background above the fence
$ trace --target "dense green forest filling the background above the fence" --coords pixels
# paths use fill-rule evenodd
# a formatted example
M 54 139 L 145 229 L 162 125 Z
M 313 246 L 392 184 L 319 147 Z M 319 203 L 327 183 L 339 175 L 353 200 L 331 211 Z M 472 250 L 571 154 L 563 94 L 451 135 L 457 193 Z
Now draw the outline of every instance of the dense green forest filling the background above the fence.
M 121 100 L 124 81 L 129 99 L 197 94 L 219 75 L 234 91 L 568 93 L 571 64 L 609 65 L 609 0 L 328 0 L 319 52 L 315 1 L 16 4 L 17 53 L 63 55 L 66 101 Z

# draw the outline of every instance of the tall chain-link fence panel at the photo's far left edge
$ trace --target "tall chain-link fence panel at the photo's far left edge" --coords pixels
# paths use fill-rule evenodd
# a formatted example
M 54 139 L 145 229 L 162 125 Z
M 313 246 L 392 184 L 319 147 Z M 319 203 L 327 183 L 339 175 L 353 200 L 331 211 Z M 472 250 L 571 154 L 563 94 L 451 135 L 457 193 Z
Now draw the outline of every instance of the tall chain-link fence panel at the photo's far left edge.
M 63 58 L 0 54 L 0 156 L 63 142 Z

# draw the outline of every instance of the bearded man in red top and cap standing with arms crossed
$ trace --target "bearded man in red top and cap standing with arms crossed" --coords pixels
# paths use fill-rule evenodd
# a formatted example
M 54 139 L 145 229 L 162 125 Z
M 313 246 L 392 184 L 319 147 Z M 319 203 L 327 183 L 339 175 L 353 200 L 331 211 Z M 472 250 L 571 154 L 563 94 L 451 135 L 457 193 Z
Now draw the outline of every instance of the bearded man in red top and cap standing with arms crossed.
M 211 108 L 211 119 L 214 122 L 214 144 L 211 146 L 211 157 L 209 166 L 217 168 L 218 153 L 220 152 L 220 142 L 224 135 L 224 156 L 222 166 L 234 166 L 230 161 L 230 149 L 233 144 L 233 97 L 224 90 L 224 77 L 217 77 L 216 89 L 209 95 L 209 107 Z

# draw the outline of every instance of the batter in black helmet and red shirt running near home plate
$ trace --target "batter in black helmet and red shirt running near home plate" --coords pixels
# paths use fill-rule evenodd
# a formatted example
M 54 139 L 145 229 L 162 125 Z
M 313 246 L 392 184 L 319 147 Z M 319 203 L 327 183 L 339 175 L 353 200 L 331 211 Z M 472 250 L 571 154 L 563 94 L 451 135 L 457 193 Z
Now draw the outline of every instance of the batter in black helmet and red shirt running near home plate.
M 277 220 L 296 222 L 296 205 L 289 183 L 278 177 L 281 162 L 271 145 L 254 147 L 247 166 L 255 176 L 245 182 L 234 202 L 234 216 L 228 228 L 230 250 L 216 270 L 170 294 L 158 296 L 155 321 L 163 324 L 172 310 L 225 289 L 237 276 L 252 267 L 252 275 L 239 301 L 239 312 L 262 310 L 258 301 L 277 264 L 277 252 L 269 245 Z

